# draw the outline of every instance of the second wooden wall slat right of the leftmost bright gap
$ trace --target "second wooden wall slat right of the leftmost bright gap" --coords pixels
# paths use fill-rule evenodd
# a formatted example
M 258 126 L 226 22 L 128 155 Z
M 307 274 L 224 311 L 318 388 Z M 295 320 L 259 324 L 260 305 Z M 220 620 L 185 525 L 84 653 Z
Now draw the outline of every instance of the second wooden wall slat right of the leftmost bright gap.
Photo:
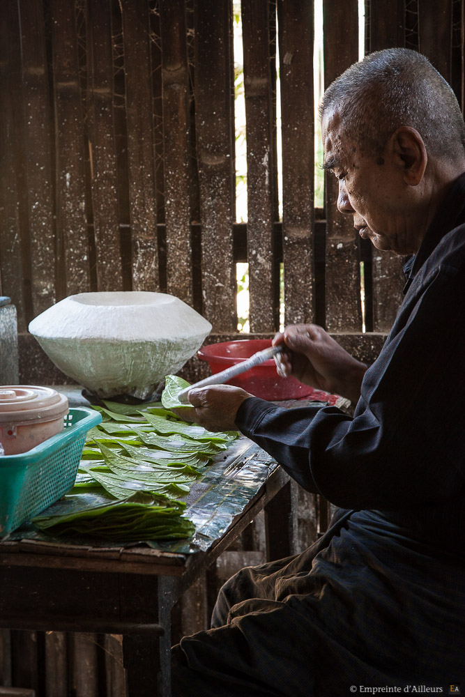
M 286 323 L 314 321 L 312 3 L 280 0 L 282 249 Z

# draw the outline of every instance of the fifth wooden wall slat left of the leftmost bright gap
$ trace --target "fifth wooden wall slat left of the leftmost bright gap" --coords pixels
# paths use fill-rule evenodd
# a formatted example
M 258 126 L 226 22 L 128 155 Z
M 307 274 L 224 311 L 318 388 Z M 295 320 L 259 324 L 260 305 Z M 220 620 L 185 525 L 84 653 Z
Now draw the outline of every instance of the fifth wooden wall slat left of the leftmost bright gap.
M 52 0 L 56 148 L 56 236 L 63 254 L 59 296 L 89 290 L 84 121 L 73 3 Z M 60 255 L 61 256 L 61 255 Z

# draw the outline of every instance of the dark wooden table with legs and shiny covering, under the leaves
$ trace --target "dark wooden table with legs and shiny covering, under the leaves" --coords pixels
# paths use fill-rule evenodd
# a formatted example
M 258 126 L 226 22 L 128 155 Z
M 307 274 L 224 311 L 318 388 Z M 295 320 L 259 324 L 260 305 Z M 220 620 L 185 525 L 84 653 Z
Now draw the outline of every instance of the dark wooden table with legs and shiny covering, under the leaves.
M 191 549 L 0 542 L 0 627 L 123 635 L 128 697 L 170 694 L 171 608 L 265 510 L 267 556 L 291 553 L 289 477 L 242 436 L 195 482 Z

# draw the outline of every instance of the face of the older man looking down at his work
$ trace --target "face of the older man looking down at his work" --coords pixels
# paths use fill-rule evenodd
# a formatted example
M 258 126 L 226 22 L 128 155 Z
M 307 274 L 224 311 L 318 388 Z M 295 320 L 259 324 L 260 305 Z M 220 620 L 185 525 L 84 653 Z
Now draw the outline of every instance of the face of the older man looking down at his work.
M 418 251 L 420 239 L 411 194 L 390 153 L 370 155 L 344 134 L 337 110 L 322 121 L 325 169 L 339 180 L 337 208 L 353 216 L 360 237 L 379 250 Z

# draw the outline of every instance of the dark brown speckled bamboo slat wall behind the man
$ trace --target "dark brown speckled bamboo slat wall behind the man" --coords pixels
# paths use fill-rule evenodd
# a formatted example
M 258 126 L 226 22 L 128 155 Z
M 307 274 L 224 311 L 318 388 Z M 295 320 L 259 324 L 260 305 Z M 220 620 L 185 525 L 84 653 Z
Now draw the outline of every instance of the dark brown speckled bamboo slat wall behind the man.
M 365 13 L 367 51 L 419 49 L 463 105 L 464 0 L 367 0 Z M 335 178 L 325 206 L 314 208 L 313 17 L 310 0 L 242 0 L 243 224 L 235 213 L 228 0 L 3 0 L 0 295 L 17 307 L 20 381 L 65 381 L 27 325 L 72 293 L 173 293 L 211 321 L 208 342 L 234 336 L 239 261 L 250 265 L 252 335 L 278 328 L 284 263 L 286 323 L 317 321 L 361 360 L 376 357 L 402 297 L 403 260 L 358 238 L 335 208 Z M 323 18 L 328 85 L 358 59 L 358 2 L 323 0 Z M 188 372 L 195 379 L 201 368 L 191 362 Z M 326 503 L 317 505 L 318 520 L 314 505 L 300 501 L 308 535 L 328 516 Z M 260 544 L 238 543 L 241 563 Z M 189 599 L 194 615 L 204 613 L 200 590 Z M 2 638 L 0 684 L 53 697 L 122 694 L 115 638 Z

